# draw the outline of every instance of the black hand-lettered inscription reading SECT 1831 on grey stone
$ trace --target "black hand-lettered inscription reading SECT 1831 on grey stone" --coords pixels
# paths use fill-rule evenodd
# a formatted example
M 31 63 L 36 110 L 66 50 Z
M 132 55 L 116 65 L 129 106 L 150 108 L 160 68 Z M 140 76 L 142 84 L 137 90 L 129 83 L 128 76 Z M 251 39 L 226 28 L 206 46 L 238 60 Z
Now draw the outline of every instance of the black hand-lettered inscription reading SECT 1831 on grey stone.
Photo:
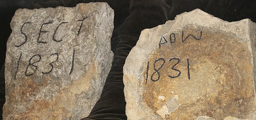
M 83 19 L 78 19 L 76 20 L 76 22 L 81 22 L 81 23 L 77 23 L 77 25 L 79 25 L 79 29 L 77 30 L 77 33 L 76 35 L 79 36 L 81 34 L 81 29 L 83 27 L 83 24 L 84 24 L 84 21 L 87 19 L 88 17 L 84 17 Z M 52 38 L 51 40 L 53 40 L 56 44 L 58 43 L 61 43 L 61 42 L 64 42 L 64 40 L 66 39 L 59 39 L 58 38 L 58 34 L 59 32 L 61 32 L 61 29 L 63 29 L 63 27 L 67 27 L 69 25 L 70 22 L 60 22 L 58 23 L 58 25 L 54 28 L 52 25 L 55 21 L 51 21 L 50 22 L 44 22 L 44 23 L 40 23 L 39 24 L 39 31 L 37 34 L 31 34 L 31 35 L 34 35 L 36 36 L 37 35 L 37 38 L 35 40 L 36 43 L 38 43 L 38 45 L 46 45 L 46 44 L 50 44 L 47 42 L 46 39 L 42 39 L 42 36 L 46 36 L 47 34 L 52 34 Z M 38 23 L 34 23 L 34 22 L 25 22 L 21 25 L 20 27 L 20 33 L 22 34 L 22 36 L 24 36 L 24 40 L 22 40 L 20 43 L 17 43 L 15 45 L 15 47 L 23 47 L 23 45 L 26 44 L 26 42 L 30 42 L 30 41 L 33 41 L 33 39 L 29 39 L 31 37 L 29 37 L 29 31 L 25 31 L 24 32 L 24 29 L 28 26 L 31 26 L 31 25 L 35 25 L 35 24 L 38 24 Z M 53 31 L 52 31 L 53 30 Z M 57 39 L 58 38 L 58 39 Z M 44 46 L 42 46 L 44 47 Z M 70 64 L 70 70 L 67 70 L 69 71 L 67 74 L 68 75 L 71 75 L 73 73 L 73 69 L 74 69 L 74 64 L 75 64 L 75 49 L 72 50 L 73 51 L 73 54 L 72 54 L 72 57 L 71 57 L 71 64 Z M 20 72 L 20 61 L 24 61 L 24 59 L 28 59 L 28 58 L 25 58 L 25 57 L 22 57 L 23 53 L 20 53 L 20 56 L 17 60 L 17 67 L 16 67 L 16 71 L 15 71 L 15 77 L 14 79 L 17 78 L 17 73 Z M 47 59 L 47 64 L 42 64 L 42 59 Z M 25 76 L 31 76 L 31 75 L 34 75 L 35 73 L 39 72 L 39 73 L 42 73 L 42 74 L 49 74 L 49 73 L 52 73 L 52 71 L 55 69 L 55 64 L 61 60 L 60 59 L 60 54 L 59 53 L 49 53 L 47 55 L 47 53 L 43 54 L 43 53 L 38 53 L 38 54 L 34 54 L 32 55 L 29 60 L 27 61 L 27 64 L 26 64 L 26 67 L 23 68 L 24 69 L 24 74 Z M 47 67 L 49 66 L 49 67 Z M 47 69 L 42 69 L 46 67 Z M 60 69 L 60 68 L 58 68 Z M 39 71 L 38 71 L 39 70 Z

